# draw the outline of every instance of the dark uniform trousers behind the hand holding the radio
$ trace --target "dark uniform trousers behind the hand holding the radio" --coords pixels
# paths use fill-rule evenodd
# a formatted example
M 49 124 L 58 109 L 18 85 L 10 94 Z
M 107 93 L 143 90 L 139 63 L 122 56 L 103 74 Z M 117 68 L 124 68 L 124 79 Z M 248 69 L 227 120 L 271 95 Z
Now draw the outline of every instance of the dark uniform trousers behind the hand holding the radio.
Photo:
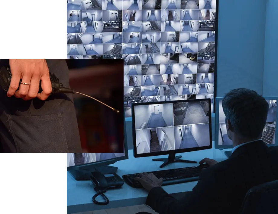
M 69 87 L 64 58 L 47 58 L 49 71 Z M 46 101 L 8 98 L 0 89 L 2 154 L 65 154 L 82 152 L 73 97 L 51 95 Z

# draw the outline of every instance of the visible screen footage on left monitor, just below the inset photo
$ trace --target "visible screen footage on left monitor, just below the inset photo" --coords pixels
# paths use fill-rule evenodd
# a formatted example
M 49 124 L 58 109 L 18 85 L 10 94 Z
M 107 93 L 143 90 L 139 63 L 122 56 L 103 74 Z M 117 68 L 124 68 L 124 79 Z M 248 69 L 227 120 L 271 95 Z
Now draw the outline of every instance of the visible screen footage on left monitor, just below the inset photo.
M 122 156 L 124 156 L 124 153 L 67 153 L 66 166 L 83 165 Z

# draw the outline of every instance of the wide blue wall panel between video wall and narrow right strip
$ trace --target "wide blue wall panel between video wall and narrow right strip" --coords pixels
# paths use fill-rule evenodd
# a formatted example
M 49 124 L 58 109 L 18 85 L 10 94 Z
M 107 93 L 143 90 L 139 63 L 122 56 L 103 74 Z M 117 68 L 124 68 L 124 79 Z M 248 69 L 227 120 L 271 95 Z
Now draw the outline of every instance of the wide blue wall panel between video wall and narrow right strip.
M 217 97 L 234 88 L 263 93 L 265 11 L 265 0 L 219 0 Z

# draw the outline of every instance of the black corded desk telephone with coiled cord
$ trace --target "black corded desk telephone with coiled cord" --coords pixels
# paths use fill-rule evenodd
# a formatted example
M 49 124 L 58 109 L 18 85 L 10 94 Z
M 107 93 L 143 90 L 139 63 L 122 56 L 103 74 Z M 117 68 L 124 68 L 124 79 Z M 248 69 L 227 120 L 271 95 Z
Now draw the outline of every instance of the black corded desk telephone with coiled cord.
M 108 198 L 104 194 L 107 189 L 121 188 L 124 185 L 123 179 L 116 173 L 103 175 L 101 172 L 95 171 L 91 173 L 90 180 L 95 186 L 94 190 L 96 192 L 92 197 L 92 201 L 98 205 L 107 205 L 109 203 Z M 105 199 L 105 202 L 95 200 L 99 195 Z

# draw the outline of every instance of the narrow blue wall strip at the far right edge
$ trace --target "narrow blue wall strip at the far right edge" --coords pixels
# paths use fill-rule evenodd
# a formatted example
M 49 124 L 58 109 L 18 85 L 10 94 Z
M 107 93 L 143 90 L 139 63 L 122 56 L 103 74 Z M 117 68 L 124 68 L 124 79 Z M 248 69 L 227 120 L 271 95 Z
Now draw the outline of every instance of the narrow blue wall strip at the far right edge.
M 278 0 L 267 0 L 265 20 L 263 96 L 278 96 Z

